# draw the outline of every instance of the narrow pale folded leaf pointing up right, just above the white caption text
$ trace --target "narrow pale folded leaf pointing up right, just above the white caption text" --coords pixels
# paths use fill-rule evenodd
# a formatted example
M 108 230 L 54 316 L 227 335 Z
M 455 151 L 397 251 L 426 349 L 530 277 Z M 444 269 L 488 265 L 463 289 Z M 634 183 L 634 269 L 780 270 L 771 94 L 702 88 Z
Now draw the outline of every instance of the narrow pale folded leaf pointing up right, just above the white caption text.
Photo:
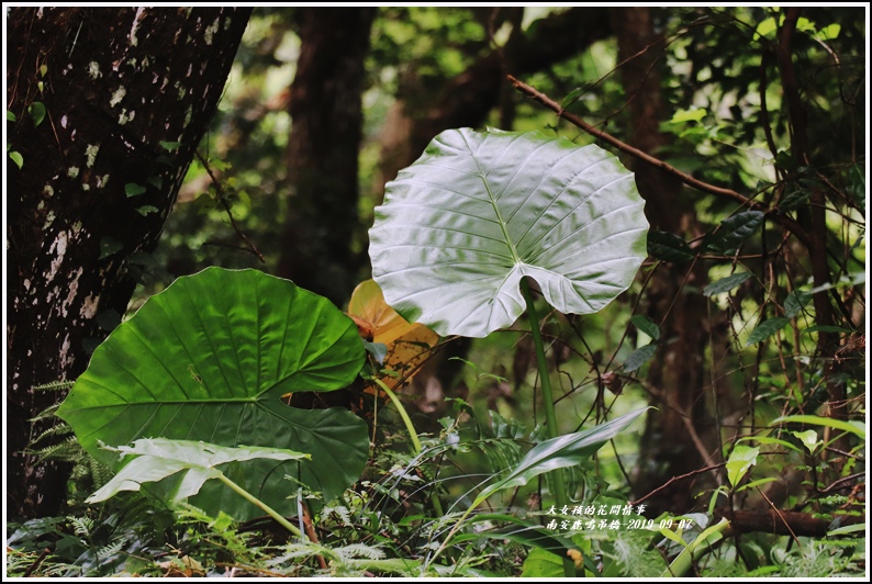
M 648 408 L 637 409 L 589 430 L 567 434 L 535 446 L 508 475 L 484 488 L 473 507 L 498 491 L 523 486 L 539 474 L 573 467 L 592 457 L 605 442 L 621 434 Z

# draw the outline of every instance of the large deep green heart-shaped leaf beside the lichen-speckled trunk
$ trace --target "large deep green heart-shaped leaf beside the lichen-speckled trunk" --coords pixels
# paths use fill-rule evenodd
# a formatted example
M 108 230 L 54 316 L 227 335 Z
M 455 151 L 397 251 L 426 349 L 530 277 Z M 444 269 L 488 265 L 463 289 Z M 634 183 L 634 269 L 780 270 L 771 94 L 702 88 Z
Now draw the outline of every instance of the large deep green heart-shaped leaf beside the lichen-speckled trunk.
M 170 438 L 309 453 L 305 461 L 253 461 L 232 476 L 290 515 L 297 506 L 287 497 L 298 485 L 286 475 L 331 501 L 360 478 L 369 439 L 364 420 L 346 409 L 297 409 L 281 397 L 344 388 L 364 358 L 357 326 L 328 300 L 256 270 L 208 268 L 179 278 L 121 324 L 58 416 L 115 471 L 124 463 L 101 442 Z M 191 503 L 239 520 L 262 514 L 220 483 Z

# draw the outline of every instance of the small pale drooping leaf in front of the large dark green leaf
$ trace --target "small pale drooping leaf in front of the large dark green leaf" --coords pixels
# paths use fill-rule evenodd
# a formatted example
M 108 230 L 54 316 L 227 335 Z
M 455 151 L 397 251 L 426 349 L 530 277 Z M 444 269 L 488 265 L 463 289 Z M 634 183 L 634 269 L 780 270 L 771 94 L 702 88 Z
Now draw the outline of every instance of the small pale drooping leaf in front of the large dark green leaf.
M 107 450 L 121 452 L 122 457 L 136 457 L 113 476 L 105 485 L 88 497 L 86 503 L 98 503 L 121 491 L 138 491 L 143 483 L 161 481 L 171 474 L 185 471 L 180 488 L 174 502 L 180 502 L 200 492 L 210 479 L 222 473 L 221 464 L 269 459 L 275 461 L 300 460 L 309 454 L 278 448 L 247 447 L 227 448 L 193 440 L 167 440 L 166 438 L 141 438 L 133 447 L 107 447 Z

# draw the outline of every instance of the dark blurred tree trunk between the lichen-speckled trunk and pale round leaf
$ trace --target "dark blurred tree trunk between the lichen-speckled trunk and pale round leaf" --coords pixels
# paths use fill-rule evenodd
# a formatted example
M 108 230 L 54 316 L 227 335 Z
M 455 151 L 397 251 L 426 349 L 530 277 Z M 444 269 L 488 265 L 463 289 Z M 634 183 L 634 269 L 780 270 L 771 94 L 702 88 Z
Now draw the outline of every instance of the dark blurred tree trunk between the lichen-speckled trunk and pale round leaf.
M 305 9 L 291 85 L 291 203 L 278 276 L 336 304 L 351 293 L 358 257 L 358 154 L 364 60 L 374 8 Z

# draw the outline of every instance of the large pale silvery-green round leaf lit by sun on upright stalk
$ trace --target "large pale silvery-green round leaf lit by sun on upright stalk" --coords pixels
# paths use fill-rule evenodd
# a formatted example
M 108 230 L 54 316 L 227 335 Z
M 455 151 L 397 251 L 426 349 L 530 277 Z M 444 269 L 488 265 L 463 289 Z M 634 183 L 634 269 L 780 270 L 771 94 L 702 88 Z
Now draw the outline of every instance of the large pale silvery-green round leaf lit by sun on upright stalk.
M 369 232 L 373 279 L 406 321 L 443 336 L 512 325 L 524 277 L 558 311 L 593 313 L 646 257 L 644 204 L 597 146 L 449 130 L 388 183 Z

